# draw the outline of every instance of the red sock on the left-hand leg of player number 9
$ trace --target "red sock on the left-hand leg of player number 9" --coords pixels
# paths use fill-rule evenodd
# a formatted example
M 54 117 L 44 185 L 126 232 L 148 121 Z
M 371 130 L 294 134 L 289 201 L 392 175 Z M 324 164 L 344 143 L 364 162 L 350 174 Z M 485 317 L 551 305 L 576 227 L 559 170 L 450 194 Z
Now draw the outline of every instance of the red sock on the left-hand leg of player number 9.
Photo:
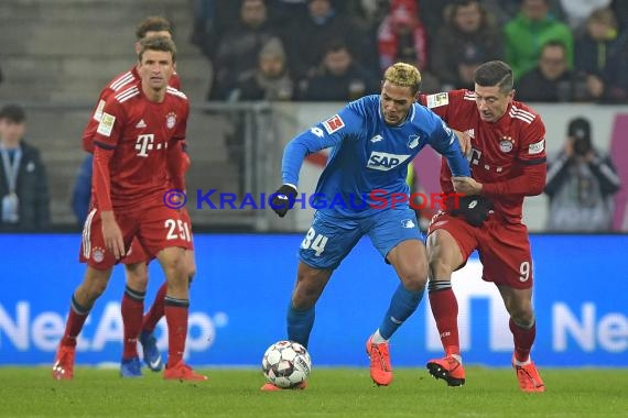
M 436 320 L 445 354 L 461 354 L 458 341 L 458 301 L 452 288 L 430 292 L 430 306 Z

